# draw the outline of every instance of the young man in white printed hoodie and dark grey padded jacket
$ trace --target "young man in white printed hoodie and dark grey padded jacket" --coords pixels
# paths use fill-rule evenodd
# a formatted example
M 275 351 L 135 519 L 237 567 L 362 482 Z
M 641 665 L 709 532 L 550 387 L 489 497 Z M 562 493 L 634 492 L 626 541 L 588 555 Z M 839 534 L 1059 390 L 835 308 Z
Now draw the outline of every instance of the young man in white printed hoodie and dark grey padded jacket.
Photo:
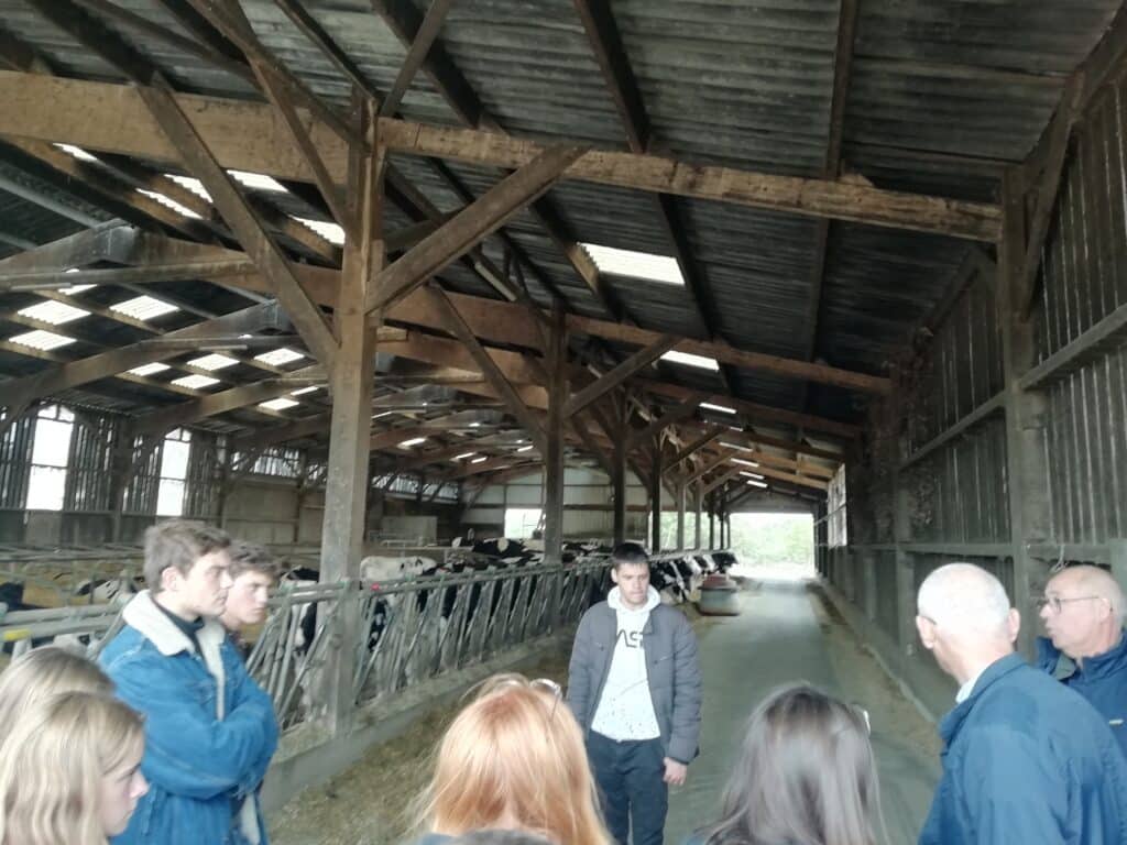
M 685 782 L 696 756 L 701 675 L 684 614 L 649 586 L 638 543 L 611 555 L 616 585 L 576 631 L 568 704 L 583 727 L 603 815 L 620 843 L 660 845 L 668 785 Z

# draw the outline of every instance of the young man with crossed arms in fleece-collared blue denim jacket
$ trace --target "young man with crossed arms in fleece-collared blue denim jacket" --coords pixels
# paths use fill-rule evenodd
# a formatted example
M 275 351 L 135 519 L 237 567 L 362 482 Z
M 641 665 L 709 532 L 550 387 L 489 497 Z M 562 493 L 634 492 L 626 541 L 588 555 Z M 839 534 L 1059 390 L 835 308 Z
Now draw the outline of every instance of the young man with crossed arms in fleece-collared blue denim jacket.
M 174 519 L 145 533 L 148 589 L 99 661 L 145 717 L 149 793 L 114 845 L 261 845 L 242 799 L 277 747 L 269 697 L 216 617 L 231 587 L 225 533 Z

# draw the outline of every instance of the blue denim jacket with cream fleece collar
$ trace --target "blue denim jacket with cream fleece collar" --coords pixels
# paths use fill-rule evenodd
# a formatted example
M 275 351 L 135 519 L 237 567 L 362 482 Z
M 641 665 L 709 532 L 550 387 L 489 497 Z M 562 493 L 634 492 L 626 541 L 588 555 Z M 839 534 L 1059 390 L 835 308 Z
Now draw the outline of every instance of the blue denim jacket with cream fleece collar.
M 222 625 L 208 621 L 199 651 L 148 592 L 125 608 L 126 628 L 99 662 L 117 695 L 145 718 L 141 772 L 149 793 L 114 845 L 265 845 L 239 810 L 277 747 L 274 706 L 247 674 Z

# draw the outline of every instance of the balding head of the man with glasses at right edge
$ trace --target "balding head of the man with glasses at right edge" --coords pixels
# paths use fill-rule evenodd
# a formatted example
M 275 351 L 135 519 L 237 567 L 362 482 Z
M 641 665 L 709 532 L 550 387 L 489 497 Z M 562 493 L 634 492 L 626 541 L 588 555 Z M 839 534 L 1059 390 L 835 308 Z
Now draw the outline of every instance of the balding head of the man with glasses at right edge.
M 1119 642 L 1124 592 L 1106 569 L 1068 567 L 1045 585 L 1045 632 L 1074 660 L 1102 655 Z

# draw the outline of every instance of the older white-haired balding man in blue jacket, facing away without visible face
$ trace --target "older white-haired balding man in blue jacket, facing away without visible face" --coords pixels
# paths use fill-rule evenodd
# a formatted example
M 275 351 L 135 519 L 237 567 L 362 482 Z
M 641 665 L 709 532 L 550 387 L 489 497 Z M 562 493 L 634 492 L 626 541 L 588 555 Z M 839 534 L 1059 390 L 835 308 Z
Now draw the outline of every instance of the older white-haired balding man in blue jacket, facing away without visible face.
M 1001 582 L 969 563 L 924 580 L 916 628 L 959 684 L 921 845 L 1127 843 L 1127 759 L 1107 722 L 1013 651 Z

